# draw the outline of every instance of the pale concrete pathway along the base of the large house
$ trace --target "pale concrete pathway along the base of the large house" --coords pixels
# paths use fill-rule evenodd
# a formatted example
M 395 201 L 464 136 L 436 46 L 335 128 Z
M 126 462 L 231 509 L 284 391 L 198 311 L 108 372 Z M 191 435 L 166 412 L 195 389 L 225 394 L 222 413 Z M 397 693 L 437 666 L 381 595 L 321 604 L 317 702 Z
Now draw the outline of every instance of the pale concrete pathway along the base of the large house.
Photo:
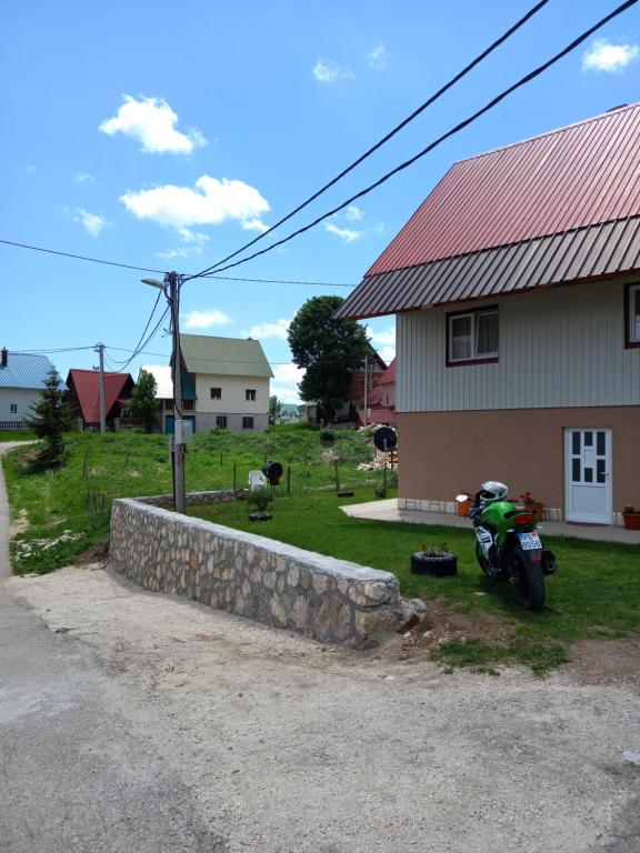
M 402 521 L 408 524 L 438 524 L 446 528 L 471 528 L 469 519 L 454 515 L 451 512 L 399 510 L 396 498 L 387 501 L 371 501 L 370 503 L 353 503 L 340 509 L 354 519 Z M 590 539 L 593 542 L 623 542 L 628 545 L 640 545 L 640 531 L 626 530 L 624 528 L 544 521 L 539 525 L 539 529 L 548 536 L 572 536 L 574 539 Z

